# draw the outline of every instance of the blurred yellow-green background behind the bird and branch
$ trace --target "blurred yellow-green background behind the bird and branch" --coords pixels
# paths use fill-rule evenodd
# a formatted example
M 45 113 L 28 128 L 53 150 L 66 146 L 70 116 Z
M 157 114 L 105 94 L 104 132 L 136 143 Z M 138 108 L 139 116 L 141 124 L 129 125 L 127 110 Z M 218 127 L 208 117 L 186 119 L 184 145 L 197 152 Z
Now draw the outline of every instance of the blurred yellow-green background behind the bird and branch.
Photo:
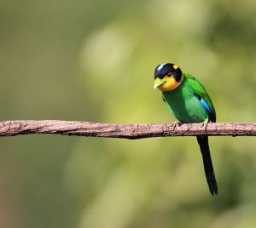
M 0 2 L 1 120 L 170 123 L 154 67 L 207 88 L 218 122 L 255 122 L 256 2 Z M 253 137 L 1 138 L 0 227 L 255 227 Z

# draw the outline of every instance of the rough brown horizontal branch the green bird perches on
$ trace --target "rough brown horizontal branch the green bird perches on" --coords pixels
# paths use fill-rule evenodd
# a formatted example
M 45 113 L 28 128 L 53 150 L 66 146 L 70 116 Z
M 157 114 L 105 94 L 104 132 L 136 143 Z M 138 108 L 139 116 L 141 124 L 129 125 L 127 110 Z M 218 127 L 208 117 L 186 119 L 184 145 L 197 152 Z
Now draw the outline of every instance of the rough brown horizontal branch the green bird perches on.
M 62 134 L 130 140 L 194 135 L 256 136 L 256 123 L 154 123 L 113 124 L 60 120 L 15 120 L 0 122 L 0 136 Z

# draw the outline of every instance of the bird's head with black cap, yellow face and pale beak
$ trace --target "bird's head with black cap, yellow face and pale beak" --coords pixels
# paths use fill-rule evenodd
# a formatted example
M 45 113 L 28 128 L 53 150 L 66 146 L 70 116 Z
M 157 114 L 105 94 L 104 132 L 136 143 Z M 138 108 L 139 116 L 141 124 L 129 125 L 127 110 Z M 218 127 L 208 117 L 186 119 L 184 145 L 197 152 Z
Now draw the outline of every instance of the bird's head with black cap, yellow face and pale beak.
M 172 91 L 183 82 L 183 71 L 172 63 L 163 63 L 155 67 L 154 89 L 162 92 Z

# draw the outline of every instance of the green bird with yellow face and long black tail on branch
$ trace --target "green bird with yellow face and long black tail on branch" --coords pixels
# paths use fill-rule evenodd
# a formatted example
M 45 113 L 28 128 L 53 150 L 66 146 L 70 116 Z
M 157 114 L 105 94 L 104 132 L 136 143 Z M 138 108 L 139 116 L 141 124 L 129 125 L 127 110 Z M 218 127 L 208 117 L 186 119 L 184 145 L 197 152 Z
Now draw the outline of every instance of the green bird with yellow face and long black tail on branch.
M 212 100 L 203 85 L 191 74 L 183 72 L 177 64 L 163 63 L 155 67 L 154 89 L 158 88 L 162 100 L 166 102 L 177 123 L 216 122 L 216 112 Z M 196 136 L 201 149 L 207 184 L 212 194 L 218 195 L 212 158 L 207 135 Z

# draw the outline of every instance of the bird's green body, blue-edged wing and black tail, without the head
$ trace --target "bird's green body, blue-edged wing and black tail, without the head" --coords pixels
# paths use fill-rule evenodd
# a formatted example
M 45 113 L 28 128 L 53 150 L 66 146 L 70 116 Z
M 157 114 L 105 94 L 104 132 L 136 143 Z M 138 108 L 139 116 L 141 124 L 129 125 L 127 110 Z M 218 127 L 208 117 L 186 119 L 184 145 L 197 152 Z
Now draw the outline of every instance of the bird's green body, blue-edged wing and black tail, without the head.
M 159 71 L 157 73 L 160 74 Z M 162 92 L 163 100 L 174 117 L 181 123 L 203 123 L 207 119 L 216 122 L 212 100 L 202 84 L 189 73 L 183 74 L 183 82 L 175 89 Z M 211 194 L 218 194 L 218 186 L 212 166 L 208 136 L 197 136 L 201 148 L 205 174 Z

